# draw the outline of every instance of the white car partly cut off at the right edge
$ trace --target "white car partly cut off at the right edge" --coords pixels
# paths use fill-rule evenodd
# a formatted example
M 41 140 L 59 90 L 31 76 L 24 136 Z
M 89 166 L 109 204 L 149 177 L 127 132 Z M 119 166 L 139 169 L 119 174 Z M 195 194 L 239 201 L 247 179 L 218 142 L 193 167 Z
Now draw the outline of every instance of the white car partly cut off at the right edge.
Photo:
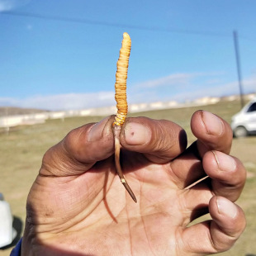
M 236 138 L 256 135 L 256 98 L 232 116 L 231 128 Z

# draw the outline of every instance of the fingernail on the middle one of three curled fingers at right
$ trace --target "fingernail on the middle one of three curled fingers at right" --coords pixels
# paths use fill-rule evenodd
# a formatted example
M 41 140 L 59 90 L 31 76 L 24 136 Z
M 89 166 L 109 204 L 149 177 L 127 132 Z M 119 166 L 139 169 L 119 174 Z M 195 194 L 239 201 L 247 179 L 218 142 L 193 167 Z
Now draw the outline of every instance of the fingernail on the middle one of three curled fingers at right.
M 219 151 L 211 151 L 214 154 L 216 162 L 220 171 L 232 172 L 236 169 L 236 162 L 230 155 L 221 153 Z

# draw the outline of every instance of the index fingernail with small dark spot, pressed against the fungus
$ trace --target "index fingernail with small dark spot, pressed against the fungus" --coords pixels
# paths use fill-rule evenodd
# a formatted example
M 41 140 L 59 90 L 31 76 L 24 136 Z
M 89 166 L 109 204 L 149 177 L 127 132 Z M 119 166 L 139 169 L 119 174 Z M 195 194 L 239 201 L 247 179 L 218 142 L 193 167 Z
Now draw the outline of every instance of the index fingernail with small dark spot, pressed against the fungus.
M 150 140 L 151 133 L 147 126 L 128 122 L 125 127 L 125 136 L 128 145 L 145 145 Z

